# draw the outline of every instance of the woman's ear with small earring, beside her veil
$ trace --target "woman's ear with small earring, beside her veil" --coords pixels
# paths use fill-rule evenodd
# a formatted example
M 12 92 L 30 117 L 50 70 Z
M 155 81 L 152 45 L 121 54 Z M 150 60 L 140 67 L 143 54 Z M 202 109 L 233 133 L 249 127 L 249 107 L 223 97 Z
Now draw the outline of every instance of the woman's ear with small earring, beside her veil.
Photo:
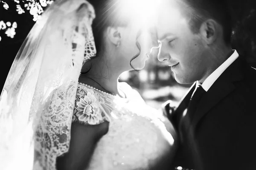
M 121 33 L 119 27 L 108 27 L 106 33 L 108 39 L 113 45 L 118 47 L 121 44 Z

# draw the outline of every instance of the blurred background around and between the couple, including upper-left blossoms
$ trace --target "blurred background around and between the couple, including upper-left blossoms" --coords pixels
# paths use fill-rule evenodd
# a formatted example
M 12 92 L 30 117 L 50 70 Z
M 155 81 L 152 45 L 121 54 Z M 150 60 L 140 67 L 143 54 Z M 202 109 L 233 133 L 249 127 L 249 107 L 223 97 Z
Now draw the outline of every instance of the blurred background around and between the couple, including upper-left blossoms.
M 53 0 L 0 0 L 1 83 L 35 21 Z M 228 0 L 233 15 L 232 46 L 256 68 L 256 0 Z M 160 108 L 166 100 L 177 103 L 190 85 L 180 85 L 164 62 L 150 58 L 140 71 L 125 72 L 120 82 L 128 82 L 148 105 Z

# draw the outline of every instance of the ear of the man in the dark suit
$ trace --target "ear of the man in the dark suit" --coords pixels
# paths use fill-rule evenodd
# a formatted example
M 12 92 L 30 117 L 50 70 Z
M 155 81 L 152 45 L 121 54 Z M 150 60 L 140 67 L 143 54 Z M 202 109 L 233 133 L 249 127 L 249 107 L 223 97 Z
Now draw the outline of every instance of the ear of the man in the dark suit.
M 207 45 L 212 44 L 217 40 L 220 25 L 212 19 L 205 20 L 200 27 L 200 33 L 203 36 Z

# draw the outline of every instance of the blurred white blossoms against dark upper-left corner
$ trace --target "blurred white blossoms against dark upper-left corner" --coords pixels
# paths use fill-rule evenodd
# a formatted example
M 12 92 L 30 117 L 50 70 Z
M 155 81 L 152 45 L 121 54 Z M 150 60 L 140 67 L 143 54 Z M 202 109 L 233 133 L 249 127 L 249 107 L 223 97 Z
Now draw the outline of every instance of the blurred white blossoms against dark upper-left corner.
M 25 38 L 35 21 L 52 2 L 53 0 L 0 0 L 0 41 L 12 43 L 15 40 L 10 38 Z M 19 34 L 16 35 L 15 29 Z

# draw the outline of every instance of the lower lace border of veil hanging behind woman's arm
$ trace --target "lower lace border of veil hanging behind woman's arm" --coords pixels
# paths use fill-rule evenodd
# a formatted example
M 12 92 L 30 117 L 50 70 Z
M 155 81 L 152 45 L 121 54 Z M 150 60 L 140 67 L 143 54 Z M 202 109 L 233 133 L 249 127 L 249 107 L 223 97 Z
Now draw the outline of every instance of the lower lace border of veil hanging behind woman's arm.
M 56 158 L 68 151 L 76 87 L 76 82 L 64 84 L 47 99 L 49 108 L 44 109 L 35 131 L 35 164 L 43 169 L 55 170 Z

